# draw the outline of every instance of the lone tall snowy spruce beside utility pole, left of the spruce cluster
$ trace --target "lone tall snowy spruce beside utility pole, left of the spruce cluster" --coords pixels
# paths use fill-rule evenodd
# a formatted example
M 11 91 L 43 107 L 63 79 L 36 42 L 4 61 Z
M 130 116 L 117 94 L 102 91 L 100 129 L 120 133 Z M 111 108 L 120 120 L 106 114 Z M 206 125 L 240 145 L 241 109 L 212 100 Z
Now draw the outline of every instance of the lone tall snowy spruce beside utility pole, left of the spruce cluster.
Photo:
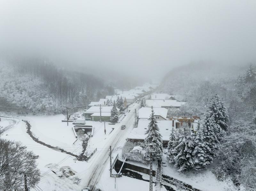
M 149 124 L 148 124 L 148 129 L 145 132 L 146 138 L 144 140 L 144 144 L 151 144 L 151 143 L 155 143 L 156 145 L 152 146 L 152 156 L 154 158 L 161 158 L 163 155 L 163 141 L 162 141 L 162 136 L 159 133 L 159 128 L 157 126 L 157 121 L 154 117 L 154 111 L 152 109 L 152 113 L 149 117 Z M 149 161 L 150 158 L 150 152 L 148 151 L 148 149 L 146 150 L 146 153 L 144 155 L 145 160 Z

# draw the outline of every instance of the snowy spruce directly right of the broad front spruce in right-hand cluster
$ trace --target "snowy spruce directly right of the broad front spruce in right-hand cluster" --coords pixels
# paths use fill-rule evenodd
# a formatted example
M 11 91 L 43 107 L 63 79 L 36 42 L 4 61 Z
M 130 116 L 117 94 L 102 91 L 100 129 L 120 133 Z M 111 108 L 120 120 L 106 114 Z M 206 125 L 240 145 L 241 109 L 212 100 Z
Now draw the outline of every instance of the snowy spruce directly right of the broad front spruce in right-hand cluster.
M 197 123 L 197 132 L 195 138 L 195 149 L 193 151 L 194 155 L 194 169 L 201 170 L 207 167 L 213 158 L 211 156 L 211 148 L 209 143 L 206 142 L 203 128 L 200 127 L 200 122 Z

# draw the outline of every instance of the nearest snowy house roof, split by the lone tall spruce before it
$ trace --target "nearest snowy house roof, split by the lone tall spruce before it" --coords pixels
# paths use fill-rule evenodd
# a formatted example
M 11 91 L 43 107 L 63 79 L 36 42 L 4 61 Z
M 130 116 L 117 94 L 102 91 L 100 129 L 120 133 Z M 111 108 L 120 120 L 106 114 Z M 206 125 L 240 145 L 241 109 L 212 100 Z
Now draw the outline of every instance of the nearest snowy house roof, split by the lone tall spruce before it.
M 128 136 L 128 139 L 145 139 L 145 132 L 148 129 L 149 120 L 140 119 L 138 122 L 138 127 L 133 128 L 132 132 Z M 168 141 L 170 133 L 172 131 L 172 121 L 158 120 L 157 125 L 162 135 L 162 140 Z M 175 129 L 175 126 L 174 126 Z

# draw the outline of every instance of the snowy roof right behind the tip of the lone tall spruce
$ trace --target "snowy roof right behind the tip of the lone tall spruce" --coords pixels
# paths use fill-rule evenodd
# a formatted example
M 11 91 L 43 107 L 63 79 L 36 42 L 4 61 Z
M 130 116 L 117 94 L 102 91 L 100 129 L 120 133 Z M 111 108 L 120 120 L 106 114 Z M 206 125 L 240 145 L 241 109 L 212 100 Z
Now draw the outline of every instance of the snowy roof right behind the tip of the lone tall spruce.
M 161 107 L 153 107 L 154 115 L 159 115 L 166 119 L 168 110 Z M 139 109 L 139 119 L 148 119 L 152 113 L 151 107 L 141 107 Z

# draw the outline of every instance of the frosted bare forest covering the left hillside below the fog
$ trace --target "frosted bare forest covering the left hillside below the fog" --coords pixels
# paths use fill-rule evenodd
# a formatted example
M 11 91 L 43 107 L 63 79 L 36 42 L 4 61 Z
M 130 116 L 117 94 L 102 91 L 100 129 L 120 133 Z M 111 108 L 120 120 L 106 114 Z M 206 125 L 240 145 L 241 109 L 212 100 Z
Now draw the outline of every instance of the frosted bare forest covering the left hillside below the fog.
M 98 77 L 39 59 L 2 63 L 0 77 L 1 110 L 20 114 L 76 111 L 114 94 Z

